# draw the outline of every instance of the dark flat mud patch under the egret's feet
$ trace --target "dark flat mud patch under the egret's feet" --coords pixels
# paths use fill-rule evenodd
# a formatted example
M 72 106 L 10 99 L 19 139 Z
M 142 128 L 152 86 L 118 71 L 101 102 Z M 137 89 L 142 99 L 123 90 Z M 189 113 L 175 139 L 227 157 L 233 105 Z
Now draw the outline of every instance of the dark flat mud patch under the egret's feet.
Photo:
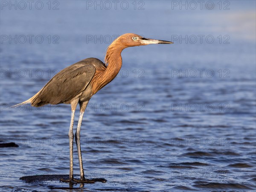
M 75 178 L 80 178 L 80 175 L 74 175 Z M 31 175 L 31 176 L 24 176 L 21 177 L 20 180 L 25 181 L 26 183 L 40 183 L 45 181 L 60 181 L 61 179 L 68 180 L 69 175 Z M 95 182 L 107 182 L 104 178 L 93 178 L 88 179 L 88 181 L 92 181 L 91 183 Z

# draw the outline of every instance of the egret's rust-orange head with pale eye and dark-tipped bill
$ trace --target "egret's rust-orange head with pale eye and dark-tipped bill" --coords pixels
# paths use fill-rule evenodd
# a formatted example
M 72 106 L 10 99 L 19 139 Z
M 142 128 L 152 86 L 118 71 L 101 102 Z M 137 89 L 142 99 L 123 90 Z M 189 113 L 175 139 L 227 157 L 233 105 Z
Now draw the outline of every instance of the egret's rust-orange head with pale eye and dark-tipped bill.
M 116 42 L 125 47 L 143 46 L 149 44 L 172 44 L 170 41 L 148 39 L 133 33 L 126 33 L 119 36 L 116 39 Z

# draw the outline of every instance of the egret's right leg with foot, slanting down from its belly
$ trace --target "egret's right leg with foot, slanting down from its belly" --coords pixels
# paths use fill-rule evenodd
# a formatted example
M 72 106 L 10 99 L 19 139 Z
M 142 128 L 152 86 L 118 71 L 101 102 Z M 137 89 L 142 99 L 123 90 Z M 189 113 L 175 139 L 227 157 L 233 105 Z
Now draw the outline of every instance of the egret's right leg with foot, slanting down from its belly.
M 78 153 L 81 180 L 74 179 L 74 181 L 80 182 L 80 183 L 95 183 L 94 181 L 90 181 L 90 180 L 84 178 L 84 168 L 83 168 L 81 145 L 80 145 L 81 124 L 82 124 L 82 120 L 83 120 L 84 110 L 85 110 L 87 104 L 88 104 L 88 101 L 80 103 L 80 116 L 79 116 L 79 120 L 78 120 L 78 124 L 77 124 L 75 138 L 76 138 L 76 147 L 77 147 L 77 153 Z

